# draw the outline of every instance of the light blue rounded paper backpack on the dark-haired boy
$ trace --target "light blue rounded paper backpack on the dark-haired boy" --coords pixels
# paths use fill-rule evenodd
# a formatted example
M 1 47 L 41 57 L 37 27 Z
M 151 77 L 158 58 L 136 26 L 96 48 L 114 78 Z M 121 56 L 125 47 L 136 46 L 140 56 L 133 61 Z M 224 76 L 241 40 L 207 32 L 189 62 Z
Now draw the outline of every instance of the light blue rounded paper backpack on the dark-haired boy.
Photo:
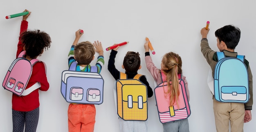
M 219 102 L 247 103 L 249 101 L 249 78 L 244 63 L 245 56 L 225 57 L 216 52 L 218 62 L 214 71 L 214 96 Z

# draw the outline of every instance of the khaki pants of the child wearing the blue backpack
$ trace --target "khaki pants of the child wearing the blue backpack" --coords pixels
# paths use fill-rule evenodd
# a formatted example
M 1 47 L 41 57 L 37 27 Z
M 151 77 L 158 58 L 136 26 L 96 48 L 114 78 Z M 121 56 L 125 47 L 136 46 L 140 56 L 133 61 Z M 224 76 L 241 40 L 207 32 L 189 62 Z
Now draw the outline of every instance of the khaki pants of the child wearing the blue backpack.
M 213 111 L 217 132 L 243 132 L 245 105 L 243 103 L 222 103 L 213 99 Z

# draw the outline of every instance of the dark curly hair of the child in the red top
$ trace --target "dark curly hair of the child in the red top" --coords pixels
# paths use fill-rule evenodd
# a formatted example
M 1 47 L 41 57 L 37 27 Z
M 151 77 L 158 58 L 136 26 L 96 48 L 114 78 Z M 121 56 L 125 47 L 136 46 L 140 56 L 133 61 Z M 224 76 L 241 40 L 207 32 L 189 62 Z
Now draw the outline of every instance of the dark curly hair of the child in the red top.
M 25 46 L 26 55 L 30 58 L 36 58 L 51 47 L 52 40 L 50 36 L 40 30 L 31 30 L 23 32 L 20 35 L 20 41 Z

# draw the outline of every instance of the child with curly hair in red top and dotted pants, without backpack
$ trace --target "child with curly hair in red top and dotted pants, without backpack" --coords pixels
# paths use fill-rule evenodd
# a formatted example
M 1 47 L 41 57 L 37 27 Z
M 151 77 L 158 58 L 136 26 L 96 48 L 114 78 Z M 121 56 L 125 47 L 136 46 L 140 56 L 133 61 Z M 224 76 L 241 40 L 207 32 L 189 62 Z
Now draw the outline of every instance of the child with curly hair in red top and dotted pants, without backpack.
M 49 35 L 45 32 L 40 30 L 27 31 L 27 17 L 31 13 L 30 11 L 28 12 L 29 14 L 24 15 L 21 22 L 16 58 L 23 50 L 25 50 L 25 58 L 30 61 L 43 54 L 44 50 L 48 50 L 52 41 Z M 28 89 L 37 82 L 40 83 L 41 87 L 28 95 L 18 96 L 14 93 L 12 94 L 13 132 L 23 132 L 24 126 L 25 132 L 36 132 L 39 119 L 38 91 L 47 91 L 49 89 L 45 64 L 42 61 L 33 65 L 32 74 L 25 89 Z

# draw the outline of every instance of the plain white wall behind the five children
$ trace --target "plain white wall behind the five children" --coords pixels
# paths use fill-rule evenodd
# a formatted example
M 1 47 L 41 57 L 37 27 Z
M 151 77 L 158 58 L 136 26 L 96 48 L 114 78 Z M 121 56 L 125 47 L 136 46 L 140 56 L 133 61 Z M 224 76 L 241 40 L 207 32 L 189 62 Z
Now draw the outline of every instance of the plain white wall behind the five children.
M 215 30 L 234 24 L 242 31 L 236 52 L 246 56 L 252 74 L 256 75 L 255 0 L 2 0 L 0 2 L 0 52 L 2 54 L 0 80 L 15 59 L 20 22 L 22 17 L 5 19 L 6 15 L 31 11 L 27 19 L 29 29 L 40 29 L 52 38 L 48 51 L 39 57 L 47 64 L 50 88 L 40 91 L 40 118 L 38 132 L 67 132 L 67 107 L 63 99 L 61 72 L 68 68 L 67 54 L 75 38 L 75 31 L 84 30 L 80 41 L 102 42 L 103 48 L 114 43 L 129 41 L 118 50 L 116 67 L 120 71 L 127 51 L 141 54 L 142 69 L 151 87 L 154 80 L 144 61 L 145 37 L 148 37 L 156 54 L 151 55 L 160 67 L 161 57 L 166 52 L 180 54 L 183 72 L 190 89 L 191 132 L 215 132 L 212 96 L 207 87 L 207 65 L 200 52 L 200 30 L 210 21 L 208 40 L 217 50 Z M 104 102 L 97 105 L 95 132 L 118 132 L 119 124 L 113 98 L 114 78 L 107 69 L 110 51 L 104 51 L 105 65 L 101 72 L 104 78 Z M 255 81 L 255 79 L 254 79 Z M 2 82 L 1 82 L 2 83 Z M 254 92 L 255 93 L 255 92 Z M 0 89 L 0 131 L 12 131 L 11 93 Z M 148 99 L 148 132 L 161 132 L 154 96 Z M 253 107 L 255 108 L 255 107 Z M 256 112 L 252 121 L 245 123 L 244 131 L 252 132 L 256 124 Z

